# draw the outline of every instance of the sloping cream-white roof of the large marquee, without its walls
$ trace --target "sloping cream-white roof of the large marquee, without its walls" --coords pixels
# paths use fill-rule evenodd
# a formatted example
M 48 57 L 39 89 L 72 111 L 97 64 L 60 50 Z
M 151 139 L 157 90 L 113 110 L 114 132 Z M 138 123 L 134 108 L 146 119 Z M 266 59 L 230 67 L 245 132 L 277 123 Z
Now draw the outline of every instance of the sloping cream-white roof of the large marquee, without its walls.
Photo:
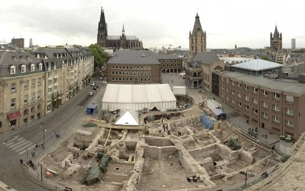
M 169 84 L 107 84 L 102 102 L 152 103 L 176 101 Z

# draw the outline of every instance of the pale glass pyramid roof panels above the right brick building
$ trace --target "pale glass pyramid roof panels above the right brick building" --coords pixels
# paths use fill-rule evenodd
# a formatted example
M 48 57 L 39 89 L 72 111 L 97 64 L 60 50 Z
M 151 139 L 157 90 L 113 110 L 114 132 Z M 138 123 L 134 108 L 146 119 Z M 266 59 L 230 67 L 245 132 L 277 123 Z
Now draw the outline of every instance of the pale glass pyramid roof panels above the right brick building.
M 277 64 L 274 62 L 257 59 L 257 60 L 251 60 L 251 61 L 247 61 L 244 63 L 240 63 L 240 64 L 234 64 L 231 67 L 259 71 L 259 70 L 265 70 L 265 69 L 270 69 L 270 68 L 278 68 L 278 67 L 282 67 L 282 66 L 283 66 L 282 64 Z

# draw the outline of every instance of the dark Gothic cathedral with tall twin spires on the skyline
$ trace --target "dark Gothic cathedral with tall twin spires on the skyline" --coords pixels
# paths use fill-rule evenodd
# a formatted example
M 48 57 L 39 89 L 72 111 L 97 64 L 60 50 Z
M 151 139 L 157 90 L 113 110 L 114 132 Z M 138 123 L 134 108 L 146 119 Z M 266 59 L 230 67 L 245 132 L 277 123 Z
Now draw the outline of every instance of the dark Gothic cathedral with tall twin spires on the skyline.
M 124 23 L 122 29 L 122 35 L 110 36 L 108 35 L 107 23 L 105 20 L 105 12 L 101 10 L 101 16 L 99 20 L 97 43 L 104 48 L 119 50 L 119 49 L 132 49 L 143 50 L 143 42 L 136 36 L 126 36 L 124 30 Z

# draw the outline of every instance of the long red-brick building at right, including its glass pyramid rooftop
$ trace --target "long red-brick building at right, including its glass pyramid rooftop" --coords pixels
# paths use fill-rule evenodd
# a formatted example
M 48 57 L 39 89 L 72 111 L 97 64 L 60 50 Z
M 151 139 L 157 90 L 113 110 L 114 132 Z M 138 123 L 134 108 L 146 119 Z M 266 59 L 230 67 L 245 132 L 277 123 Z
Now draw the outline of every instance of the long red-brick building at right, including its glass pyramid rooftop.
M 305 123 L 302 118 L 305 114 L 303 82 L 297 78 L 278 78 L 274 72 L 280 64 L 255 61 L 235 64 L 237 72 L 214 72 L 219 76 L 221 102 L 259 127 L 298 138 Z

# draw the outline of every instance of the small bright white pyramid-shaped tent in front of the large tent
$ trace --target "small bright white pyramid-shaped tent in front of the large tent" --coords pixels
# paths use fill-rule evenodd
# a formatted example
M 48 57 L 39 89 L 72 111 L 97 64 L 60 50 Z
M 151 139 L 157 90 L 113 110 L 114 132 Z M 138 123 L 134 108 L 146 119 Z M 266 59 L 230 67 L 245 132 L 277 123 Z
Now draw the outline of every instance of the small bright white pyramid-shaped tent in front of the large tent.
M 139 112 L 120 111 L 120 117 L 114 123 L 115 125 L 139 125 Z

